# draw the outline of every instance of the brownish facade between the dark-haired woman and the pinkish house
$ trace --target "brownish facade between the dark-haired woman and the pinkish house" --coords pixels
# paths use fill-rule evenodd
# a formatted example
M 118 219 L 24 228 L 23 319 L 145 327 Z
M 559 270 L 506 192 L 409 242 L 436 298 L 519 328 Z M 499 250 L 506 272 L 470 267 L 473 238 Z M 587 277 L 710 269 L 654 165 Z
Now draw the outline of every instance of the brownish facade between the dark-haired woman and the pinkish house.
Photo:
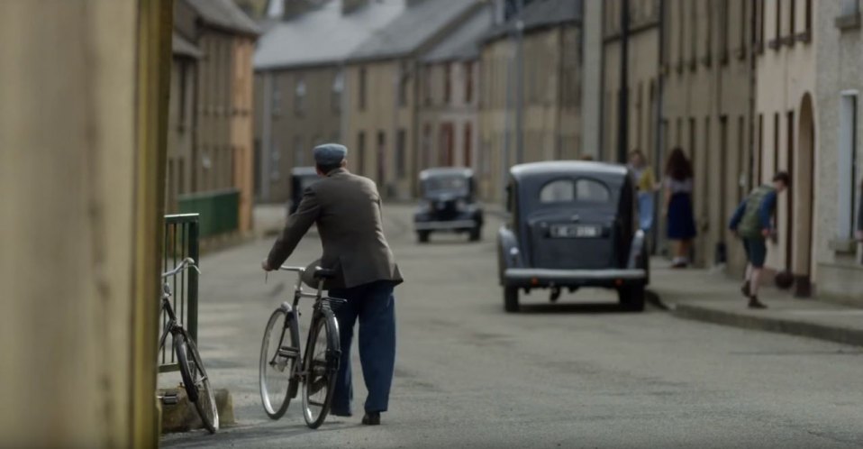
M 741 245 L 728 231 L 740 200 L 758 182 L 753 152 L 752 69 L 755 3 L 667 1 L 662 26 L 661 171 L 673 148 L 686 152 L 695 170 L 694 208 L 699 266 L 745 268 Z

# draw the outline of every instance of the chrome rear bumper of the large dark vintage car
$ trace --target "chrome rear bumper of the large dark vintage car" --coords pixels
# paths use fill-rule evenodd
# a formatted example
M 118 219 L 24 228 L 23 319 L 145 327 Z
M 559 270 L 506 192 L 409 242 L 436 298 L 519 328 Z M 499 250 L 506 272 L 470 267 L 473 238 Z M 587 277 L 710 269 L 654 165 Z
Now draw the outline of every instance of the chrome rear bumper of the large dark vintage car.
M 647 270 L 547 270 L 510 268 L 504 285 L 510 287 L 621 287 L 647 283 Z

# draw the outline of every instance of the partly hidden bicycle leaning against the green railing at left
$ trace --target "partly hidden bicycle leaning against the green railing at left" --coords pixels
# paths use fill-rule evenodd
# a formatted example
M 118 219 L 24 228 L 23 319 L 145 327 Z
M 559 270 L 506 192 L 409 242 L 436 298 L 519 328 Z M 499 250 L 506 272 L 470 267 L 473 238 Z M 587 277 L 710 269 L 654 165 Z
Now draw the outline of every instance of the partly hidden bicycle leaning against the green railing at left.
M 201 360 L 201 354 L 198 353 L 195 341 L 189 336 L 186 329 L 177 323 L 177 315 L 174 313 L 174 307 L 171 306 L 170 301 L 172 292 L 168 278 L 182 270 L 186 270 L 187 267 L 191 267 L 198 273 L 201 272 L 195 265 L 195 260 L 187 257 L 174 270 L 162 273 L 162 279 L 164 279 L 162 283 L 162 311 L 168 315 L 168 323 L 162 330 L 161 337 L 159 337 L 159 351 L 165 347 L 168 334 L 171 334 L 174 342 L 174 353 L 177 353 L 180 376 L 183 378 L 183 387 L 186 389 L 186 396 L 189 401 L 195 404 L 204 427 L 211 434 L 214 434 L 219 429 L 219 411 L 216 409 L 215 396 L 213 395 L 213 389 L 210 387 L 210 379 L 207 377 L 204 362 Z

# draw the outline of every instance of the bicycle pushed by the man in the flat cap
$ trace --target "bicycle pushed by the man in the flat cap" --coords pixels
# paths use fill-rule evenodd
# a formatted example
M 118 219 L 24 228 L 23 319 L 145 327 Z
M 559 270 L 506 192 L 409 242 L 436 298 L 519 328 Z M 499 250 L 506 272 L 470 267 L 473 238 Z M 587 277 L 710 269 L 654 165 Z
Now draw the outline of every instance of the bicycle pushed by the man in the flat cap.
M 303 417 L 305 424 L 318 428 L 330 412 L 332 391 L 341 359 L 339 324 L 332 312 L 346 301 L 322 295 L 323 282 L 332 279 L 333 270 L 317 267 L 314 279 L 317 292 L 303 290 L 304 268 L 279 267 L 297 273 L 293 305 L 283 302 L 269 317 L 260 349 L 260 399 L 268 417 L 285 415 L 291 399 L 296 398 L 303 383 Z M 305 352 L 300 346 L 300 298 L 314 298 L 313 315 Z

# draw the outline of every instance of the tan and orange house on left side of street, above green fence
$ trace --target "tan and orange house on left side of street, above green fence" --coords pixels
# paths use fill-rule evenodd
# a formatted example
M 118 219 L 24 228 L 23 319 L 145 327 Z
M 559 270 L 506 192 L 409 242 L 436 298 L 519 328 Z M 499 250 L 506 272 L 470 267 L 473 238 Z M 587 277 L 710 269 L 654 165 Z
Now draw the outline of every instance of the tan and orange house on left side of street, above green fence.
M 259 28 L 232 0 L 178 0 L 174 8 L 166 208 L 202 211 L 204 236 L 246 232 Z

